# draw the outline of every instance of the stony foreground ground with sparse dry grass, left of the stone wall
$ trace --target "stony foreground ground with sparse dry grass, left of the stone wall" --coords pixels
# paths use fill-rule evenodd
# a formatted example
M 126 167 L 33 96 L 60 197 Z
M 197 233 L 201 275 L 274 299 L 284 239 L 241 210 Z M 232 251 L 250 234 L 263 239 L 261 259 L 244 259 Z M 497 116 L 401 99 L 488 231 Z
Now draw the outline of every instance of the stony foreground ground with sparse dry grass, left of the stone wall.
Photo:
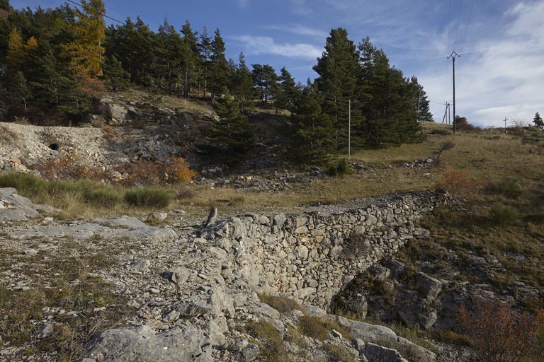
M 312 209 L 335 213 L 386 201 L 387 197 L 358 199 Z M 168 344 L 164 336 L 182 331 L 183 338 L 190 340 L 204 333 L 198 338 L 208 341 L 210 348 L 203 342 L 199 347 L 202 359 L 195 361 L 252 361 L 259 351 L 284 354 L 283 361 L 366 361 L 384 353 L 392 354 L 392 361 L 402 361 L 398 352 L 374 346 L 383 344 L 384 338 L 396 341 L 394 346 L 400 351 L 412 351 L 424 358 L 419 360 L 431 361 L 421 357 L 427 356 L 424 349 L 390 329 L 327 315 L 311 305 L 276 306 L 276 310 L 261 303 L 259 290 L 242 275 L 223 279 L 217 248 L 199 238 L 200 228 L 194 228 L 195 222 L 203 220 L 191 220 L 193 226 L 189 226 L 182 211 L 159 214 L 153 217 L 166 218 L 154 219 L 153 224 L 172 230 L 169 238 L 130 236 L 141 223 L 132 218 L 92 223 L 46 215 L 28 221 L 0 221 L 0 308 L 4 315 L 0 361 L 73 361 L 81 355 L 85 362 L 101 361 L 100 351 L 113 348 L 108 338 L 125 343 L 120 332 L 113 337 L 96 334 L 104 329 L 138 331 L 154 344 L 164 345 L 163 351 L 177 351 L 179 356 L 186 349 Z M 84 234 L 89 225 L 96 228 Z M 27 312 L 22 320 L 14 315 Z M 309 337 L 295 332 L 305 317 L 334 320 L 336 325 L 327 322 L 325 337 Z M 127 327 L 136 329 L 119 329 Z M 268 335 L 270 330 L 278 335 Z M 92 336 L 101 338 L 97 337 L 100 348 L 94 339 L 84 349 Z M 275 341 L 281 347 L 271 349 Z M 461 358 L 460 351 L 451 346 L 433 350 L 439 361 Z M 341 356 L 344 359 L 334 359 Z M 417 361 L 414 358 L 410 360 Z M 161 359 L 180 361 L 166 355 Z

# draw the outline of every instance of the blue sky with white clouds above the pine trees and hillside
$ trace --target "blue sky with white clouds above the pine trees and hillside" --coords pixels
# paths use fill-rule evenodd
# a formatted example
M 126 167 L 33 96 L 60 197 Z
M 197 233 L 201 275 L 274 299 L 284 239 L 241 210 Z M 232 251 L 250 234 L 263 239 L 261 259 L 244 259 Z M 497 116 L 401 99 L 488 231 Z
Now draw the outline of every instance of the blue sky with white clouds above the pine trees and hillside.
M 504 127 L 504 118 L 531 122 L 544 114 L 544 1 L 512 0 L 105 0 L 106 15 L 124 21 L 140 15 L 157 31 L 168 17 L 179 30 L 215 28 L 227 58 L 247 64 L 285 66 L 295 81 L 312 71 L 332 28 L 345 28 L 356 44 L 370 37 L 402 70 L 417 76 L 441 122 L 444 103 L 482 127 Z M 11 0 L 14 8 L 57 7 L 62 1 Z M 508 121 L 510 123 L 510 121 Z

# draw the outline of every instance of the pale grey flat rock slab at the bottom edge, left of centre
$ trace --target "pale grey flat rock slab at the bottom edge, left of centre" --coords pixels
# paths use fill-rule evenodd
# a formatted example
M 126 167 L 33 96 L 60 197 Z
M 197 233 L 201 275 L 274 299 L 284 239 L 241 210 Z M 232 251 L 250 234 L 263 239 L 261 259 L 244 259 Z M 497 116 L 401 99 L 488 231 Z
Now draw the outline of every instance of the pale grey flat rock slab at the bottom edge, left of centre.
M 142 325 L 96 334 L 79 361 L 213 362 L 214 359 L 210 339 L 201 330 L 174 328 L 157 333 Z

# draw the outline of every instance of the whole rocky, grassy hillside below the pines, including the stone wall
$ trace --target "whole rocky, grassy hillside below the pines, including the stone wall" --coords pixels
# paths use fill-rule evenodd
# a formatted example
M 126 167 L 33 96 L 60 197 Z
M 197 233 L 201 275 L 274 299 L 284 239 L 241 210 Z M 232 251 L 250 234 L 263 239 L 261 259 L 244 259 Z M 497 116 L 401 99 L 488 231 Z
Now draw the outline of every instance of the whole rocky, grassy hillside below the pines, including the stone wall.
M 201 361 L 259 352 L 266 361 L 372 361 L 385 353 L 374 345 L 409 361 L 468 361 L 461 305 L 484 293 L 525 313 L 543 306 L 544 134 L 536 128 L 454 135 L 450 125 L 423 124 L 414 143 L 352 151 L 353 173 L 333 177 L 327 166 L 293 161 L 286 116 L 251 111 L 257 148 L 227 168 L 195 153 L 217 122 L 208 105 L 163 96 L 153 108 L 134 90 L 101 102 L 109 113 L 82 127 L 0 124 L 0 187 L 16 187 L 6 171 L 75 156 L 89 169 L 183 157 L 199 175 L 164 207 L 96 206 L 55 181 L 54 194 L 21 182 L 18 194 L 52 207 L 23 202 L 34 220 L 0 221 L 6 361 L 101 361 L 98 349 L 132 333 L 157 346 L 169 333 L 210 339 Z M 455 171 L 482 187 L 426 193 Z M 15 210 L 12 192 L 2 201 Z M 212 206 L 217 222 L 203 228 Z M 318 327 L 324 337 L 304 332 Z

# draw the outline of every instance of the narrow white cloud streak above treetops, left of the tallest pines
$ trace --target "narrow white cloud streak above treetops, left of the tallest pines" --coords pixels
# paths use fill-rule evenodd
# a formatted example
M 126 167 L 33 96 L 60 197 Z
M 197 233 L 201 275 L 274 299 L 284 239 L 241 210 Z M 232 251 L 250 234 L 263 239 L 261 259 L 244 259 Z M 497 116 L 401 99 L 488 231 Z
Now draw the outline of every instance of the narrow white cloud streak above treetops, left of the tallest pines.
M 234 37 L 244 43 L 247 54 L 273 54 L 283 57 L 300 57 L 316 59 L 321 56 L 321 49 L 310 44 L 276 44 L 271 37 L 256 37 L 252 35 L 243 35 Z

